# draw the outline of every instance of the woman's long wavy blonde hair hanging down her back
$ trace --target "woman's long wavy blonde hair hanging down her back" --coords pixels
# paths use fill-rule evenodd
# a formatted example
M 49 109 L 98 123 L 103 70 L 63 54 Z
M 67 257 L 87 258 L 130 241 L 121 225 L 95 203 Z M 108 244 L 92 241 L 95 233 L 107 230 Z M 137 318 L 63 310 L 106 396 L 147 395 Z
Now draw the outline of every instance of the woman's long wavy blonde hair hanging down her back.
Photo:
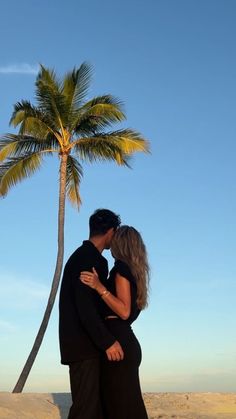
M 134 227 L 119 227 L 112 238 L 111 253 L 129 266 L 137 284 L 137 305 L 144 309 L 148 304 L 149 265 L 140 233 Z

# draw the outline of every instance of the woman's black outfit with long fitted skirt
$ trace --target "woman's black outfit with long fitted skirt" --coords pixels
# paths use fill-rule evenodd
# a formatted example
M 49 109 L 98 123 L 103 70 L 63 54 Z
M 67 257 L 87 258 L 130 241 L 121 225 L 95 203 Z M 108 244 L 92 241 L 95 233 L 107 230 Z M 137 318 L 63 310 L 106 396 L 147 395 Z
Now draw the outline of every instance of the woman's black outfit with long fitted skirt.
M 104 419 L 148 419 L 139 382 L 141 347 L 131 328 L 131 323 L 140 313 L 136 303 L 136 281 L 128 265 L 117 260 L 106 283 L 107 289 L 113 295 L 116 295 L 117 273 L 130 282 L 131 313 L 127 320 L 106 319 L 108 329 L 124 350 L 124 360 L 108 361 L 106 356 L 102 359 L 101 390 Z M 106 318 L 116 314 L 104 304 L 103 315 Z

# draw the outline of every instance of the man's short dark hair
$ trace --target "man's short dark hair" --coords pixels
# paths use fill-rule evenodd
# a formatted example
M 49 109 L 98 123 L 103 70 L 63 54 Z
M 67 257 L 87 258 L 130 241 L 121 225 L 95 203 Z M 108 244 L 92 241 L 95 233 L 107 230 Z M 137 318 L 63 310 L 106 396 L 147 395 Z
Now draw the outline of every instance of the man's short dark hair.
M 110 228 L 116 230 L 120 225 L 120 216 L 107 209 L 97 209 L 89 218 L 90 237 L 107 233 Z

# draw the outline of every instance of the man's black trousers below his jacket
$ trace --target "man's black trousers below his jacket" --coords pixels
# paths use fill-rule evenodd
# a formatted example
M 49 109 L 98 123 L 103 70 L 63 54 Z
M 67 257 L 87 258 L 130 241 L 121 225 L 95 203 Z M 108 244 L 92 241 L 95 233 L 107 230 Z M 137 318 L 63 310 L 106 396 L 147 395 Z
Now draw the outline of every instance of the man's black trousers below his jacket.
M 68 419 L 103 419 L 100 401 L 100 359 L 69 365 L 72 406 Z

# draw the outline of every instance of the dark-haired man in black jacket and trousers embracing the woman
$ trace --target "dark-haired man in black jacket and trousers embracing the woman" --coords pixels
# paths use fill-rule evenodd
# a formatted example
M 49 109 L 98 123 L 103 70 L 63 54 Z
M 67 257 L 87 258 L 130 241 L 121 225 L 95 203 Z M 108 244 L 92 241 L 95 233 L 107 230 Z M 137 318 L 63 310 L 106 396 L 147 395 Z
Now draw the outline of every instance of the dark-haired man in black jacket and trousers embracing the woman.
M 96 269 L 101 281 L 108 275 L 101 255 L 110 248 L 120 217 L 99 209 L 89 219 L 89 240 L 69 258 L 59 300 L 61 363 L 69 365 L 72 406 L 68 419 L 102 419 L 99 397 L 100 354 L 110 361 L 123 359 L 123 350 L 99 315 L 99 295 L 80 281 L 81 271 Z

